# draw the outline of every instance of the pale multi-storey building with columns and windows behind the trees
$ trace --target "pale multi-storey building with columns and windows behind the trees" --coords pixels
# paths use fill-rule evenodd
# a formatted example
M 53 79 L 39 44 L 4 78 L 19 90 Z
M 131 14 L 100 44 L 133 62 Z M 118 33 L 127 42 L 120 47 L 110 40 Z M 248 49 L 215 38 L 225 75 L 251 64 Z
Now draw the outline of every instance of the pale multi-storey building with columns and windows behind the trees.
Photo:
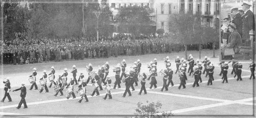
M 147 6 L 153 12 L 150 19 L 155 22 L 155 30 L 164 29 L 169 32 L 169 17 L 177 14 L 201 15 L 202 24 L 214 27 L 214 21 L 219 21 L 220 0 L 108 0 L 108 5 L 113 12 L 113 21 L 116 20 L 119 9 L 128 6 Z M 219 23 L 217 23 L 219 24 Z M 118 24 L 115 32 L 118 32 Z

